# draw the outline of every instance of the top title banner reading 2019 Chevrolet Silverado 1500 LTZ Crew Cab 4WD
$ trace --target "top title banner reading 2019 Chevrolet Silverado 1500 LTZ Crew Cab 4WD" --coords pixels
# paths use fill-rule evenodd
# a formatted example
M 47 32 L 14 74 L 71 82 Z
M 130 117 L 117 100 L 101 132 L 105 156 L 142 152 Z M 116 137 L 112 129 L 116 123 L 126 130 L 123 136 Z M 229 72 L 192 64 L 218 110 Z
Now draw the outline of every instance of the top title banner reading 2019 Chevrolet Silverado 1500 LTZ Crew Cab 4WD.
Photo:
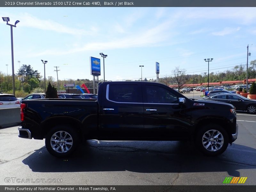
M 4 0 L 0 7 L 255 7 L 255 0 Z

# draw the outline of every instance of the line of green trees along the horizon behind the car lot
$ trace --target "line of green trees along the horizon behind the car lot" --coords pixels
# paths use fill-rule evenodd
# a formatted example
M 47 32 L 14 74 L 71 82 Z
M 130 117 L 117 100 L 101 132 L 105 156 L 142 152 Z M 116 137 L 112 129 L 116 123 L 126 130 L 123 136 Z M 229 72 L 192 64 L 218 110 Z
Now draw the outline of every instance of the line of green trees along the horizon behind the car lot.
M 248 79 L 256 78 L 256 60 L 252 60 L 248 66 Z M 232 69 L 226 70 L 224 72 L 211 72 L 209 74 L 209 82 L 219 82 L 219 81 L 235 81 L 246 79 L 246 66 L 240 65 L 235 66 Z M 145 78 L 143 81 L 148 81 Z M 194 74 L 190 75 L 186 73 L 186 69 L 180 68 L 180 66 L 175 67 L 172 70 L 172 76 L 166 76 L 159 78 L 159 83 L 166 85 L 175 84 L 179 85 L 179 88 L 184 84 L 200 84 L 208 81 L 208 73 Z M 54 87 L 57 86 L 57 81 L 52 77 L 48 76 L 46 78 L 46 84 L 49 82 Z M 67 79 L 59 80 L 60 90 L 65 90 L 64 84 L 74 83 L 85 84 L 88 88 L 93 88 L 93 82 L 89 79 Z M 32 92 L 36 88 L 44 89 L 44 78 L 40 75 L 37 70 L 34 70 L 30 65 L 22 65 L 17 73 L 15 74 L 15 92 L 16 97 L 24 97 L 28 93 Z M 11 93 L 12 94 L 12 76 L 5 75 L 0 71 L 0 92 Z

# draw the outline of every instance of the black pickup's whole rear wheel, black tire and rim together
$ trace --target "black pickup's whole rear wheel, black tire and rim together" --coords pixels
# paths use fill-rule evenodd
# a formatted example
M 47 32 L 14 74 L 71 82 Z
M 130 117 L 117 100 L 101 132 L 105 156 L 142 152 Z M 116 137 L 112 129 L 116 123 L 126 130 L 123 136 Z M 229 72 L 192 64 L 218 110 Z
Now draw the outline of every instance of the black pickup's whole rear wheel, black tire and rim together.
M 45 137 L 45 147 L 55 157 L 70 156 L 76 150 L 77 144 L 76 130 L 66 125 L 53 127 Z

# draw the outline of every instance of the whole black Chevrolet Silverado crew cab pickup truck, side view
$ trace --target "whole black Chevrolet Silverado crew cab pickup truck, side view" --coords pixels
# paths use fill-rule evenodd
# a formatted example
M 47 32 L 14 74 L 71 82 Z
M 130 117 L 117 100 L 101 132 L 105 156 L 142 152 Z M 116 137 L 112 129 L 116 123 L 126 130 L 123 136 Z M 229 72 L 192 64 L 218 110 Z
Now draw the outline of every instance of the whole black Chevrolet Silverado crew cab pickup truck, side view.
M 233 105 L 193 100 L 152 82 L 104 82 L 97 100 L 23 100 L 19 137 L 44 139 L 57 157 L 81 140 L 192 140 L 205 155 L 237 138 Z

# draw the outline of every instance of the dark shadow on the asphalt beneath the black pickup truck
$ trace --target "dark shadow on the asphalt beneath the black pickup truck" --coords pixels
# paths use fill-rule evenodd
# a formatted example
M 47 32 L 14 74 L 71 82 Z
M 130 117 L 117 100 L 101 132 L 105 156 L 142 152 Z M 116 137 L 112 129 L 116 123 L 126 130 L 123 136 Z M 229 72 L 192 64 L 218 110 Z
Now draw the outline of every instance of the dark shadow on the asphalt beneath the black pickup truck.
M 228 172 L 256 168 L 256 149 L 232 144 L 217 157 L 207 157 L 187 141 L 98 141 L 88 140 L 68 158 L 56 158 L 45 147 L 22 161 L 33 172 L 142 173 Z

